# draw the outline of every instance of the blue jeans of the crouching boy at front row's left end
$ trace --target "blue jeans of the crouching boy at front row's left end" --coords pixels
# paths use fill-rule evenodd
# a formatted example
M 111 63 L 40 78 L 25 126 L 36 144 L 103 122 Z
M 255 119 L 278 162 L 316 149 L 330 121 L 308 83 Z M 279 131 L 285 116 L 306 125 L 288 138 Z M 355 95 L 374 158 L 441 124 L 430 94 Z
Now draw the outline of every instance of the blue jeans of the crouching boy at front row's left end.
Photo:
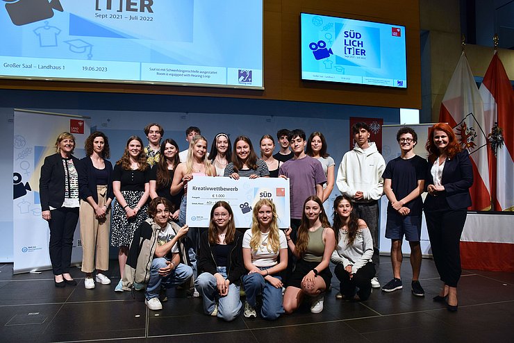
M 182 263 L 179 263 L 167 276 L 160 276 L 159 269 L 166 267 L 167 261 L 169 261 L 167 258 L 154 258 L 151 261 L 150 280 L 147 290 L 144 292 L 144 297 L 147 300 L 159 296 L 161 284 L 165 285 L 166 288 L 178 286 L 192 276 L 192 268 Z

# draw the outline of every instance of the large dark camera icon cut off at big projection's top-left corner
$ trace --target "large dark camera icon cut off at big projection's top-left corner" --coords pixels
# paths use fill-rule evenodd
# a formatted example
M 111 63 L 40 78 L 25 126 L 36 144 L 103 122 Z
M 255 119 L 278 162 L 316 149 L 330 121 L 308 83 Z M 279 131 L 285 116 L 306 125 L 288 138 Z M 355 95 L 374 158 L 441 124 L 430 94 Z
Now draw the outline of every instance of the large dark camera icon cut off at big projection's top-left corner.
M 22 26 L 53 17 L 54 10 L 63 12 L 59 0 L 3 0 L 11 22 Z

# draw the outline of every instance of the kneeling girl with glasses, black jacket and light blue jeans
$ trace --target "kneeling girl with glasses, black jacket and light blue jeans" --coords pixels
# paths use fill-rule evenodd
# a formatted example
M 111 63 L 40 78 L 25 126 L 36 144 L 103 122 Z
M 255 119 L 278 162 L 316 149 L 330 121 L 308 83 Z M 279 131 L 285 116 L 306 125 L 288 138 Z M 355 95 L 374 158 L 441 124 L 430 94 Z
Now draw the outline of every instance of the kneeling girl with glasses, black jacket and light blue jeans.
M 202 296 L 206 315 L 226 321 L 238 317 L 242 308 L 240 278 L 245 272 L 242 234 L 235 231 L 233 212 L 226 201 L 218 201 L 210 210 L 210 224 L 200 237 L 197 263 L 201 274 L 194 287 Z

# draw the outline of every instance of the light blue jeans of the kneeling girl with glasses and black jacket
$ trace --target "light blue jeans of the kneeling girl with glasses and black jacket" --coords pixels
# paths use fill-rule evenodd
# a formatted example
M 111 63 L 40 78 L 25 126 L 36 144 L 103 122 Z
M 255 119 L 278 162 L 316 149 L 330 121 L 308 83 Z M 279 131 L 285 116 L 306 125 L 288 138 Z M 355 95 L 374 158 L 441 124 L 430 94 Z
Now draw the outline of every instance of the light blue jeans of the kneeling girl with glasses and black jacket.
M 217 272 L 226 278 L 226 267 L 217 267 Z M 242 303 L 239 299 L 240 287 L 238 285 L 231 283 L 229 285 L 229 293 L 226 296 L 219 296 L 215 276 L 210 273 L 202 273 L 194 281 L 194 287 L 197 288 L 197 291 L 204 300 L 204 312 L 206 315 L 213 313 L 216 298 L 219 298 L 217 317 L 226 321 L 232 321 L 238 317 L 242 308 Z

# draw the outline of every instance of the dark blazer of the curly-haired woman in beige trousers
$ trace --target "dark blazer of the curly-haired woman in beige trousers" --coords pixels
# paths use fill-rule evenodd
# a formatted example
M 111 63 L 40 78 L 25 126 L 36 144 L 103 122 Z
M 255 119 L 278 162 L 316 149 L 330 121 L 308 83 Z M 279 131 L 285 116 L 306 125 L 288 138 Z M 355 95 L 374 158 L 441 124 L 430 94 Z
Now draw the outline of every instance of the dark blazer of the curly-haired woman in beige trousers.
M 106 159 L 103 159 L 103 162 L 106 163 L 106 170 L 109 173 L 107 179 L 107 199 L 114 199 L 113 165 Z M 81 169 L 78 170 L 78 196 L 83 201 L 92 196 L 94 202 L 98 203 L 97 178 L 94 176 L 94 165 L 89 156 L 81 159 Z

